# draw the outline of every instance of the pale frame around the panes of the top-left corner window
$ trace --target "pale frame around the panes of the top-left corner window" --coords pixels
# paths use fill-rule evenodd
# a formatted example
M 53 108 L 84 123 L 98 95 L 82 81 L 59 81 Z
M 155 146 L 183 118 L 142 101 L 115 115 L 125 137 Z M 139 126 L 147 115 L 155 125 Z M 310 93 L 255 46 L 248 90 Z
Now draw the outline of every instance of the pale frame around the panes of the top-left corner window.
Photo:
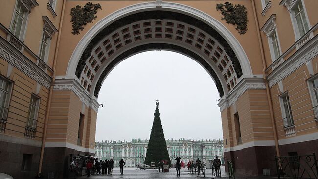
M 15 31 L 12 31 L 12 28 L 13 28 L 13 21 L 15 19 L 15 16 L 16 16 L 16 13 L 17 13 L 17 8 L 18 8 L 18 5 L 22 8 L 24 14 L 23 14 L 23 22 L 21 24 L 21 30 L 20 30 L 20 34 L 19 34 L 19 37 L 17 37 L 15 35 Z M 12 15 L 12 18 L 11 18 L 11 22 L 10 22 L 10 32 L 12 32 L 12 34 L 19 40 L 23 41 L 24 38 L 25 38 L 25 34 L 26 34 L 26 27 L 27 27 L 27 22 L 28 22 L 28 19 L 29 19 L 29 11 L 24 7 L 24 5 L 22 4 L 22 2 L 20 0 L 16 0 L 16 4 L 14 6 L 14 10 L 13 10 L 13 15 Z

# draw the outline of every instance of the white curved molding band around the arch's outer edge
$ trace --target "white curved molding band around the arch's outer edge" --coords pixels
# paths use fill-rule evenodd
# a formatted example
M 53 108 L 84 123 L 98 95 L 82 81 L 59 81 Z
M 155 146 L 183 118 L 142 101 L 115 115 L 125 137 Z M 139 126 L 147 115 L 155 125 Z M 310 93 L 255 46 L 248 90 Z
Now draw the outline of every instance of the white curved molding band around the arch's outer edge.
M 134 4 L 134 5 L 119 9 L 115 11 L 114 13 L 110 14 L 109 16 L 106 16 L 102 20 L 98 21 L 83 36 L 83 38 L 78 42 L 77 46 L 75 47 L 68 63 L 66 76 L 76 78 L 74 74 L 76 72 L 77 64 L 80 61 L 81 56 L 83 52 L 85 51 L 87 45 L 93 39 L 92 37 L 95 37 L 95 35 L 98 34 L 98 32 L 100 32 L 102 29 L 107 27 L 109 24 L 113 23 L 115 20 L 118 20 L 118 17 L 123 17 L 129 14 L 132 14 L 132 12 L 149 11 L 154 8 L 156 8 L 155 1 Z M 229 30 L 219 20 L 216 20 L 212 16 L 205 14 L 198 9 L 195 9 L 186 5 L 178 4 L 178 3 L 173 3 L 173 2 L 163 1 L 162 10 L 172 11 L 172 12 L 183 12 L 183 13 L 189 14 L 191 17 L 202 19 L 209 26 L 217 29 L 217 31 L 219 32 L 222 32 L 223 37 L 227 40 L 229 44 L 231 44 L 231 47 L 234 53 L 236 54 L 240 62 L 240 65 L 242 66 L 243 74 L 244 75 L 252 74 L 250 63 L 243 47 L 240 45 L 240 43 L 235 38 L 235 36 L 231 32 L 229 32 Z

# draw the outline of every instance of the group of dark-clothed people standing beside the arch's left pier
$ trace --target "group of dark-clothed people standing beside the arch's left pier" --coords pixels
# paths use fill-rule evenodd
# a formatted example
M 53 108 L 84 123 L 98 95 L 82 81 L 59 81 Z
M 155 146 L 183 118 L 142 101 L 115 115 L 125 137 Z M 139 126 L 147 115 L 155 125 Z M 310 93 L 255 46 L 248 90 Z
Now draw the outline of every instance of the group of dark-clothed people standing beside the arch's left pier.
M 91 175 L 91 169 L 93 168 L 93 163 L 94 163 L 94 160 L 89 160 L 86 163 L 87 177 L 90 177 L 90 175 Z M 123 175 L 124 174 L 124 165 L 125 165 L 124 159 L 121 159 L 118 164 L 120 167 L 120 174 Z M 98 159 L 95 160 L 96 174 L 112 175 L 113 168 L 114 168 L 113 159 L 110 159 L 110 160 L 106 159 L 105 161 L 103 161 L 103 160 L 98 161 Z

